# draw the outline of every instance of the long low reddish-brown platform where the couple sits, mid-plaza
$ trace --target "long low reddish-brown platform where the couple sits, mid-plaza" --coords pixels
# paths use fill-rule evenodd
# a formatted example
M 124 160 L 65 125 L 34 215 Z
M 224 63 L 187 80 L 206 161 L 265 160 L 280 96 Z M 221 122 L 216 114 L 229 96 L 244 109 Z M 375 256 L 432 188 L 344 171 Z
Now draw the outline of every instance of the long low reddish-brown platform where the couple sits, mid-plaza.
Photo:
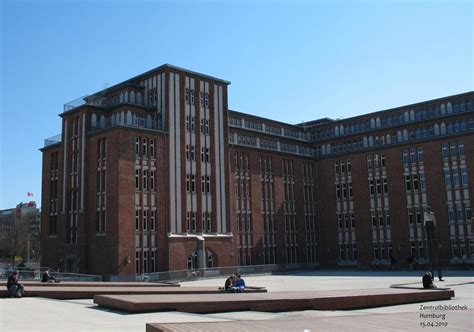
M 355 289 L 275 293 L 222 293 L 187 295 L 96 295 L 94 303 L 127 312 L 342 310 L 415 302 L 448 300 L 453 290 Z

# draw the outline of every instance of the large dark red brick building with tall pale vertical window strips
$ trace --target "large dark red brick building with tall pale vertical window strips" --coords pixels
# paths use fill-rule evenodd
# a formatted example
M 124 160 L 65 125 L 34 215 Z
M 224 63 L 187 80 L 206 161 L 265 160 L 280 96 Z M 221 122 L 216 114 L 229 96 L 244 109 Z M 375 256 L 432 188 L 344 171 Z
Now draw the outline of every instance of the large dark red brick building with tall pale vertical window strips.
M 425 263 L 428 206 L 441 262 L 474 262 L 473 92 L 290 125 L 229 110 L 229 84 L 163 65 L 65 105 L 42 149 L 42 265 Z

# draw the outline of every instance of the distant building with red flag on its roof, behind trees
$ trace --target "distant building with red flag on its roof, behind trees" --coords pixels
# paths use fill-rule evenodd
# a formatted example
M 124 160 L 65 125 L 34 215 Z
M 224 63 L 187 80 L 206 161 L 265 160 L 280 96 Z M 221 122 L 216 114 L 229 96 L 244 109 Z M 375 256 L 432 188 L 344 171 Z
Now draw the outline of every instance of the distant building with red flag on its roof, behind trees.
M 36 203 L 20 203 L 0 211 L 0 258 L 20 256 L 25 263 L 39 259 L 41 213 Z M 29 251 L 28 251 L 29 250 Z

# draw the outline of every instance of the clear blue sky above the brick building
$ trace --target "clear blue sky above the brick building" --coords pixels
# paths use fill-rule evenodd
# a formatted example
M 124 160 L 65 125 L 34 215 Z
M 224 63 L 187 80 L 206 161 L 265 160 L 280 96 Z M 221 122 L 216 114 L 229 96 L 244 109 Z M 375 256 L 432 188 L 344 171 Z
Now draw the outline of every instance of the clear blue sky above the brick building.
M 41 202 L 63 104 L 169 63 L 288 123 L 474 90 L 473 1 L 0 0 L 0 209 Z

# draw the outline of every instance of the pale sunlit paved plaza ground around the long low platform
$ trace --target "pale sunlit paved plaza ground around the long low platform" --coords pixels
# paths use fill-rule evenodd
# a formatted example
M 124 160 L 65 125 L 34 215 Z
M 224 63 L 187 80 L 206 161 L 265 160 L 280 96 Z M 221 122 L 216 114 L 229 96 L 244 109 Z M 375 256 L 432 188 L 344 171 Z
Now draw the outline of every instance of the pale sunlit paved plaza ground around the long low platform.
M 422 271 L 318 271 L 292 275 L 243 276 L 249 286 L 269 292 L 421 286 Z M 183 282 L 182 287 L 222 286 L 222 279 Z M 455 298 L 418 304 L 344 311 L 128 314 L 97 307 L 93 300 L 0 299 L 0 331 L 145 331 L 147 323 L 174 331 L 468 331 L 474 329 L 472 271 L 447 271 L 438 287 Z M 238 296 L 238 294 L 236 294 Z M 443 316 L 444 315 L 444 316 Z M 164 324 L 164 325 L 163 325 Z M 424 327 L 423 327 L 424 325 Z M 151 326 L 150 326 L 151 327 Z

